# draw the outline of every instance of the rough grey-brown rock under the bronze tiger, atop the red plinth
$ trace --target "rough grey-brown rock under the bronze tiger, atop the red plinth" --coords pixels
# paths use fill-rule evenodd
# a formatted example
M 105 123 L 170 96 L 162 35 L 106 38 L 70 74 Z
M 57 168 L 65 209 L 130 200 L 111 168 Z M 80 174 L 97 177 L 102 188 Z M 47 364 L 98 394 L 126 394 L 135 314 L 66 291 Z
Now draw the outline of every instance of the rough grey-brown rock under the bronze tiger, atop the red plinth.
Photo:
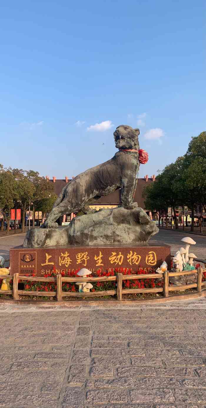
M 129 210 L 119 207 L 75 217 L 64 228 L 33 228 L 27 232 L 23 247 L 147 242 L 159 229 L 145 211 L 135 204 Z

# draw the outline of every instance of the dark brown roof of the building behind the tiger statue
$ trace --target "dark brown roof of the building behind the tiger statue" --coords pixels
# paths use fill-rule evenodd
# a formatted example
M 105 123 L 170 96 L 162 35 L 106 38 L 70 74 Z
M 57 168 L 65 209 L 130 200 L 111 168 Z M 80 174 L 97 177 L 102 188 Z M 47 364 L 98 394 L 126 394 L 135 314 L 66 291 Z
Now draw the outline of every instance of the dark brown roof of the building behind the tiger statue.
M 68 180 L 68 183 L 71 180 Z M 53 180 L 50 180 L 51 183 L 53 183 Z M 137 186 L 136 186 L 136 191 L 134 194 L 134 202 L 138 202 L 138 206 L 142 207 L 144 209 L 145 208 L 145 204 L 144 204 L 144 199 L 142 197 L 142 190 L 145 187 L 145 185 L 147 186 L 148 184 L 150 184 L 152 182 L 151 178 L 148 178 L 148 181 L 146 182 L 146 180 L 144 178 L 138 178 L 138 182 L 137 182 Z M 66 181 L 65 180 L 56 180 L 54 184 L 54 189 L 55 189 L 55 193 L 57 195 L 59 195 L 59 193 L 61 192 L 62 188 L 66 186 Z M 99 200 L 96 200 L 96 204 L 119 204 L 120 202 L 120 189 L 114 191 L 113 193 L 109 194 L 109 195 L 104 195 L 101 196 L 101 198 L 99 198 Z

